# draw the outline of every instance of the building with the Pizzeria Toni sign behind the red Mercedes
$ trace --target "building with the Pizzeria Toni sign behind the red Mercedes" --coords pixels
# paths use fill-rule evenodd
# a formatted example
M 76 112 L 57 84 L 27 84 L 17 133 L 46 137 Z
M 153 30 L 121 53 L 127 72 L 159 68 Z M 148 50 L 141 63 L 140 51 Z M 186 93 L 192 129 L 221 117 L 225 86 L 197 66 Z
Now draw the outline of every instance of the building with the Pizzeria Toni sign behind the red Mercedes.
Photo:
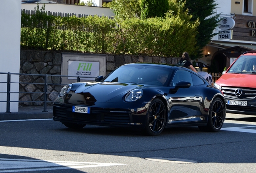
M 221 21 L 213 31 L 217 35 L 203 49 L 205 56 L 194 62 L 200 71 L 222 72 L 240 54 L 256 50 L 256 0 L 216 0 L 216 3 L 216 14 L 220 14 Z M 227 23 L 228 20 L 233 23 Z

